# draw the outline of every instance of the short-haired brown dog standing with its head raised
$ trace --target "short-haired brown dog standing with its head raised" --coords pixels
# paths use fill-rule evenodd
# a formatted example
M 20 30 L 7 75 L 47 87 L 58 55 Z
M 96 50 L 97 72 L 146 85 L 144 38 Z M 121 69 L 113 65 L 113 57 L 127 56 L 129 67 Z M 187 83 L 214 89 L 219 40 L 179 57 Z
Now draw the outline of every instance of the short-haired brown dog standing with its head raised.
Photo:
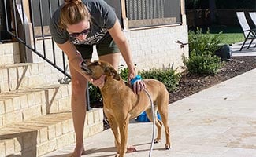
M 127 150 L 128 123 L 143 111 L 152 121 L 150 99 L 145 91 L 138 95 L 132 91 L 132 87 L 125 83 L 111 64 L 103 61 L 83 62 L 81 69 L 86 75 L 93 79 L 98 79 L 101 75 L 106 75 L 104 86 L 100 89 L 103 98 L 103 109 L 109 120 L 110 127 L 115 137 L 117 153 L 124 157 Z M 161 141 L 161 126 L 165 126 L 166 144 L 165 149 L 171 147 L 168 125 L 168 103 L 169 93 L 165 85 L 155 79 L 143 79 L 147 86 L 147 92 L 154 102 L 154 111 L 161 115 L 162 122 L 156 119 L 158 136 L 154 143 Z

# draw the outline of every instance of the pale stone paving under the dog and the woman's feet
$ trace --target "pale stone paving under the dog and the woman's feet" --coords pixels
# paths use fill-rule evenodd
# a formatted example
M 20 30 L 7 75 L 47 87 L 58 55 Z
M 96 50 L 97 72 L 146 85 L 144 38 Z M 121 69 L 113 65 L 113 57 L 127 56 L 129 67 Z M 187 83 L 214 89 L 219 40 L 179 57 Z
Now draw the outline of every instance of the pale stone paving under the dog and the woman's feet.
M 160 144 L 154 144 L 153 157 L 256 157 L 256 69 L 170 104 L 169 125 L 173 148 L 163 149 L 163 137 Z M 132 121 L 128 141 L 138 152 L 126 156 L 147 157 L 151 137 L 151 123 Z M 84 141 L 84 157 L 115 155 L 111 130 Z M 74 147 L 44 157 L 66 157 Z

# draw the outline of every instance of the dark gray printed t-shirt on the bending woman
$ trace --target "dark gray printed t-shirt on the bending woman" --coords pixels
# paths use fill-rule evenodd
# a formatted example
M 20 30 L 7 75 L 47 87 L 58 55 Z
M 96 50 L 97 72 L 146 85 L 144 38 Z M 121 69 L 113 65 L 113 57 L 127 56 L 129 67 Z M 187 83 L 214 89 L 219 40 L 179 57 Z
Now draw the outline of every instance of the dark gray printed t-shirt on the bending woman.
M 61 5 L 61 7 L 54 12 L 53 17 L 50 20 L 50 33 L 52 38 L 54 38 L 54 41 L 58 44 L 63 44 L 69 40 L 75 45 L 94 45 L 100 42 L 102 38 L 106 38 L 109 35 L 107 29 L 113 27 L 117 20 L 113 8 L 103 0 L 82 1 L 91 14 L 91 28 L 87 35 L 87 39 L 85 41 L 79 41 L 76 38 L 70 37 L 68 31 L 61 30 L 61 28 L 58 27 L 61 7 L 63 7 L 63 5 Z

